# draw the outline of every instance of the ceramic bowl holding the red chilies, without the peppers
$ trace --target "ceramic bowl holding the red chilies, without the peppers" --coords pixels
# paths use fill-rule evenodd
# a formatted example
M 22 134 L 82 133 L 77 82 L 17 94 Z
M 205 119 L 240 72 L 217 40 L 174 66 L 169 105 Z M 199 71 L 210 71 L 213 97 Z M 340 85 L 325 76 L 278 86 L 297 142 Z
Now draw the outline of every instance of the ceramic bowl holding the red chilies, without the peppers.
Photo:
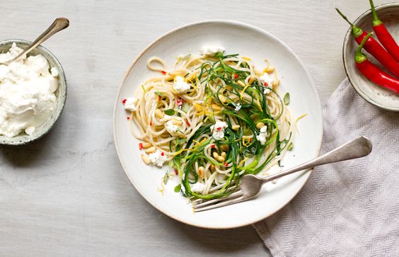
M 399 3 L 383 4 L 376 6 L 376 12 L 378 18 L 386 25 L 389 32 L 395 38 L 396 42 L 399 42 Z M 371 10 L 363 13 L 356 21 L 354 25 L 357 25 L 362 30 L 367 32 L 373 31 L 372 28 L 373 16 Z M 376 35 L 374 35 L 376 38 Z M 357 49 L 357 42 L 352 37 L 352 30 L 349 28 L 347 35 L 345 35 L 344 46 L 342 49 L 345 71 L 347 72 L 348 79 L 354 89 L 369 103 L 383 108 L 385 110 L 399 111 L 399 94 L 394 93 L 386 88 L 378 86 L 373 82 L 366 79 L 363 74 L 359 72 L 354 62 L 354 53 Z M 371 62 L 382 68 L 381 64 L 374 59 L 365 50 L 367 57 Z M 383 69 L 383 68 L 382 68 Z

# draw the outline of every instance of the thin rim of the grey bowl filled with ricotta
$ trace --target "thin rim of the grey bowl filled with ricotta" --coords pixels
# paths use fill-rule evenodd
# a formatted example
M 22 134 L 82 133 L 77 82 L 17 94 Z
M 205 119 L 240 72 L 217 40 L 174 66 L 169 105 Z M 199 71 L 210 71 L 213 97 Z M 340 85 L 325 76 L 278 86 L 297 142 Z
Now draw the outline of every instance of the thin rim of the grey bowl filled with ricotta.
M 0 41 L 0 45 L 12 44 L 13 42 L 22 43 L 22 44 L 25 44 L 25 45 L 30 45 L 33 41 L 23 40 L 23 39 L 7 39 L 7 40 L 1 40 Z M 52 61 L 54 61 L 54 64 L 57 67 L 57 70 L 58 70 L 59 74 L 62 74 L 62 76 L 59 76 L 59 81 L 60 81 L 60 83 L 61 83 L 61 80 L 64 81 L 65 92 L 63 93 L 62 99 L 59 98 L 59 96 L 61 96 L 61 94 L 59 94 L 59 96 L 57 98 L 57 101 L 62 100 L 62 102 L 60 102 L 61 103 L 61 108 L 59 108 L 59 110 L 57 111 L 57 115 L 55 116 L 54 121 L 52 123 L 50 123 L 50 126 L 47 127 L 41 134 L 36 135 L 35 137 L 27 137 L 24 140 L 16 140 L 15 142 L 3 142 L 3 141 L 0 140 L 0 145 L 10 145 L 10 146 L 25 145 L 25 144 L 29 144 L 30 142 L 34 142 L 37 139 L 40 139 L 40 138 L 44 137 L 48 132 L 50 132 L 50 130 L 52 130 L 54 125 L 59 120 L 59 117 L 61 116 L 62 111 L 64 110 L 65 103 L 67 101 L 67 91 L 68 91 L 67 90 L 67 76 L 65 76 L 64 68 L 62 67 L 62 65 L 59 62 L 59 60 L 57 59 L 57 57 L 55 57 L 55 55 L 52 52 L 50 52 L 50 50 L 48 50 L 46 47 L 44 47 L 42 45 L 38 45 L 37 47 L 35 47 L 35 49 L 36 48 L 40 52 L 45 52 L 52 59 Z

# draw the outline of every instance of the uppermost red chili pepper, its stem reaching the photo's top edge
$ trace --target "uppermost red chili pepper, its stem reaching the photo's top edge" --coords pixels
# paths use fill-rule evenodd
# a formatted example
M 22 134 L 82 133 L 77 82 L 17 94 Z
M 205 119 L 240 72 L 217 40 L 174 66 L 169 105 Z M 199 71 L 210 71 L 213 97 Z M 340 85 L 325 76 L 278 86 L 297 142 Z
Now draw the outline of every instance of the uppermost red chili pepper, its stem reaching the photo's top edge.
M 392 35 L 386 29 L 386 26 L 378 18 L 376 8 L 374 8 L 373 0 L 370 0 L 371 11 L 373 12 L 373 29 L 376 32 L 378 40 L 380 40 L 383 47 L 399 62 L 399 46 L 396 44 Z

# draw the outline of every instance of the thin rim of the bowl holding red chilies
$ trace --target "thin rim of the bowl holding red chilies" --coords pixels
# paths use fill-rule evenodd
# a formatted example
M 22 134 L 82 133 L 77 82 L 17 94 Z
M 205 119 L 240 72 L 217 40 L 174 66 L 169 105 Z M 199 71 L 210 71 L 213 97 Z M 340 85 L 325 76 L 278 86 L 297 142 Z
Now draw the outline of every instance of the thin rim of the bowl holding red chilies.
M 376 6 L 376 11 L 385 9 L 385 8 L 398 7 L 398 6 L 399 6 L 399 2 L 380 4 L 380 5 Z M 364 18 L 366 18 L 370 15 L 371 15 L 371 8 L 369 10 L 364 11 L 364 13 L 362 13 L 359 17 L 357 17 L 356 20 L 354 20 L 353 24 L 357 25 L 360 21 L 364 20 Z M 391 108 L 391 107 L 384 106 L 383 104 L 377 103 L 371 97 L 369 97 L 366 93 L 364 93 L 359 88 L 359 86 L 357 86 L 356 83 L 352 82 L 354 79 L 353 79 L 353 76 L 349 72 L 348 61 L 347 61 L 347 57 L 345 55 L 346 52 L 348 51 L 347 48 L 349 45 L 349 40 L 352 40 L 352 28 L 350 28 L 350 27 L 347 30 L 347 33 L 345 34 L 344 42 L 342 45 L 342 62 L 344 64 L 345 74 L 347 74 L 347 78 L 349 79 L 349 82 L 352 85 L 352 87 L 354 88 L 354 90 L 356 90 L 357 93 L 359 93 L 359 96 L 362 96 L 362 98 L 364 98 L 364 100 L 366 100 L 367 102 L 371 103 L 372 105 L 374 105 L 378 108 L 381 108 L 383 110 L 390 110 L 393 112 L 399 112 L 399 106 L 397 108 Z

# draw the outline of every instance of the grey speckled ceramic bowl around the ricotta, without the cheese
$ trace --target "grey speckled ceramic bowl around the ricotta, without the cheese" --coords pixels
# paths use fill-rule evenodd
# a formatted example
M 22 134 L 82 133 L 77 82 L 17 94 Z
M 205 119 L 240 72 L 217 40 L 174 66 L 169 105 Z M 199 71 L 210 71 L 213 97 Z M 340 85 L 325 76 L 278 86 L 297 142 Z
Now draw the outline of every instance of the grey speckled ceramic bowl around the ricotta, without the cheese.
M 27 40 L 4 40 L 0 42 L 0 52 L 7 52 L 13 42 L 16 42 L 16 45 L 23 49 L 25 49 L 25 47 L 27 47 L 31 43 Z M 54 112 L 45 123 L 43 123 L 39 127 L 36 127 L 36 130 L 35 132 L 33 132 L 32 135 L 26 135 L 25 133 L 22 133 L 21 135 L 18 135 L 16 137 L 6 137 L 0 135 L 0 144 L 21 145 L 28 144 L 29 142 L 33 142 L 34 140 L 39 139 L 40 137 L 46 135 L 47 132 L 52 129 L 52 127 L 57 122 L 59 116 L 61 115 L 62 110 L 64 109 L 65 101 L 67 99 L 67 80 L 65 79 L 64 69 L 62 69 L 62 66 L 57 58 L 45 47 L 38 46 L 29 53 L 29 55 L 39 54 L 43 55 L 47 59 L 50 67 L 55 67 L 59 72 L 59 85 L 57 91 L 55 92 L 55 95 L 57 96 L 57 105 L 55 106 Z

